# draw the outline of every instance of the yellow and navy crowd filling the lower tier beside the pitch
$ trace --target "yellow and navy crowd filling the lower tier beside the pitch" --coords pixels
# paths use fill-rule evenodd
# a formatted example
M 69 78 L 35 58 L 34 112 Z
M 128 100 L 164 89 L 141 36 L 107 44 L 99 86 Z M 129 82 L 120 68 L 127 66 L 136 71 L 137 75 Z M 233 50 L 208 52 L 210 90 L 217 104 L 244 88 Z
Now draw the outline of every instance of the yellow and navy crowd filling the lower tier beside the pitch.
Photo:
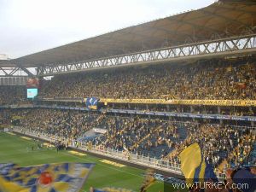
M 256 138 L 249 128 L 55 109 L 18 109 L 3 116 L 20 116 L 20 125 L 30 131 L 69 140 L 79 140 L 92 128 L 102 128 L 107 132 L 92 140 L 96 146 L 169 160 L 172 165 L 179 164 L 178 154 L 195 142 L 201 145 L 207 161 L 216 167 L 224 160 L 225 167 L 256 162 L 255 157 L 250 159 L 256 150 Z

